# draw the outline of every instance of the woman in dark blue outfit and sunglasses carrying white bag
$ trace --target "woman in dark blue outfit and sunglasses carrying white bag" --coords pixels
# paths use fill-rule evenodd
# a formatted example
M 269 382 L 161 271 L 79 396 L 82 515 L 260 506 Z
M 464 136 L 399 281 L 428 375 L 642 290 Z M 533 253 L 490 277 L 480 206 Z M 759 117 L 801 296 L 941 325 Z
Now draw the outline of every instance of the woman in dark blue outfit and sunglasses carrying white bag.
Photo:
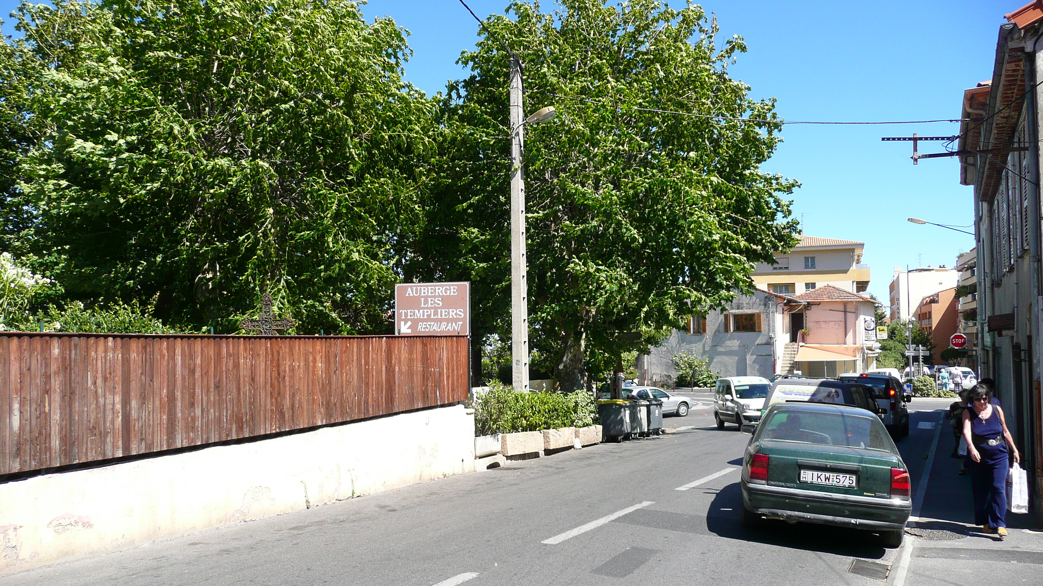
M 1021 462 L 1003 410 L 993 405 L 989 387 L 978 384 L 968 393 L 964 411 L 964 440 L 967 441 L 967 467 L 974 493 L 974 524 L 983 533 L 1006 537 L 1006 474 L 1010 469 L 1008 446 L 1015 462 Z

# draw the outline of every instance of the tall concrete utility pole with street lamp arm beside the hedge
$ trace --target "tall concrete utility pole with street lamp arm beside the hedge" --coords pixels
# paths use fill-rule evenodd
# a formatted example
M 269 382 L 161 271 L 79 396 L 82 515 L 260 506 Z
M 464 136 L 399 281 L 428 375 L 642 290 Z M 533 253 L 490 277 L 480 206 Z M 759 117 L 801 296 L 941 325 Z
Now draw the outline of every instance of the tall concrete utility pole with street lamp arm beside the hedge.
M 525 118 L 522 62 L 511 59 L 511 382 L 514 392 L 529 392 L 529 285 L 526 276 L 525 125 L 554 118 L 554 106 Z

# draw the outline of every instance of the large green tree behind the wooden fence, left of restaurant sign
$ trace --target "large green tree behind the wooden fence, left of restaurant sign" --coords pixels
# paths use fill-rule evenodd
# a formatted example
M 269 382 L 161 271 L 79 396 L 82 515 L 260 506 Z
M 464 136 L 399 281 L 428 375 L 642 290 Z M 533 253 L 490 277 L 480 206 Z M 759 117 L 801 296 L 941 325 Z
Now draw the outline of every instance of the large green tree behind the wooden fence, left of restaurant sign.
M 67 294 L 159 295 L 165 320 L 234 332 L 267 289 L 298 333 L 389 329 L 434 129 L 392 21 L 349 0 L 58 0 L 18 19 L 4 91 L 31 98 L 15 114 L 39 137 L 0 189 L 31 216 L 10 246 Z

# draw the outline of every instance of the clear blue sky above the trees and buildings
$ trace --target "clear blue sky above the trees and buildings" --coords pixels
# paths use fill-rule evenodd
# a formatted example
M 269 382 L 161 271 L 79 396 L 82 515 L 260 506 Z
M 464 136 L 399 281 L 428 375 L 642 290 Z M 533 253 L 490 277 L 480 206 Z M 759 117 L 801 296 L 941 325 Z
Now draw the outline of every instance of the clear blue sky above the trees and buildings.
M 480 17 L 502 13 L 504 0 L 469 0 Z M 675 7 L 683 2 L 672 2 Z M 754 98 L 778 98 L 789 120 L 881 121 L 959 118 L 963 90 L 992 77 L 1003 15 L 1023 2 L 707 1 L 721 38 L 741 34 L 749 52 L 731 75 Z M 0 0 L 0 14 L 17 5 Z M 544 9 L 552 2 L 542 2 Z M 370 0 L 369 17 L 407 28 L 414 56 L 406 77 L 435 93 L 463 76 L 460 52 L 474 47 L 477 23 L 457 0 Z M 6 19 L 5 19 L 6 20 Z M 4 31 L 9 33 L 9 24 Z M 505 89 L 506 91 L 506 89 Z M 530 103 L 530 109 L 540 105 Z M 870 292 L 888 298 L 896 266 L 952 266 L 973 239 L 905 221 L 970 224 L 971 188 L 960 185 L 953 158 L 909 161 L 909 143 L 880 137 L 951 136 L 957 124 L 786 126 L 785 142 L 765 171 L 799 179 L 794 211 L 804 234 L 866 243 Z M 941 150 L 925 143 L 921 152 Z

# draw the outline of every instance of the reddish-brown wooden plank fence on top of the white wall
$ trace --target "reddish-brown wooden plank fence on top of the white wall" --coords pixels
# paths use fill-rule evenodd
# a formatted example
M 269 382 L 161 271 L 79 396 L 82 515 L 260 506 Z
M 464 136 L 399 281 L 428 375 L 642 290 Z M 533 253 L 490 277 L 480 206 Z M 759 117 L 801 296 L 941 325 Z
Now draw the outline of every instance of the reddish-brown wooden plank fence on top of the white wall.
M 0 474 L 467 398 L 467 337 L 0 333 Z

